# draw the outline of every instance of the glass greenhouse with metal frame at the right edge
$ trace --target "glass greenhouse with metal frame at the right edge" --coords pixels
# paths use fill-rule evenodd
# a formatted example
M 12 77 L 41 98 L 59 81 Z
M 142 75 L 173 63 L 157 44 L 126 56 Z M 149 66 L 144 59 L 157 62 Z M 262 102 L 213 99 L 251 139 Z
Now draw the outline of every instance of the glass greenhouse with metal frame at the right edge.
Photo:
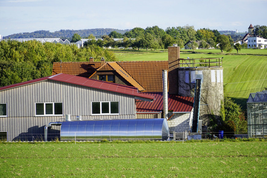
M 250 93 L 247 126 L 249 138 L 267 138 L 267 91 Z

